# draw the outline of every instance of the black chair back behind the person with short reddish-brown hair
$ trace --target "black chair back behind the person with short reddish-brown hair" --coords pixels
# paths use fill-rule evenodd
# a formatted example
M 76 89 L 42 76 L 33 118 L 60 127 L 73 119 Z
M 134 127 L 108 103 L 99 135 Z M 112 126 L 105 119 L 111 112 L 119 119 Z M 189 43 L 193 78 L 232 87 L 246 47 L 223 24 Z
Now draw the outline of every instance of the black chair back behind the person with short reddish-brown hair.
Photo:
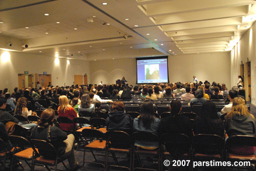
M 123 131 L 107 131 L 106 142 L 110 148 L 128 149 L 131 148 L 131 137 Z

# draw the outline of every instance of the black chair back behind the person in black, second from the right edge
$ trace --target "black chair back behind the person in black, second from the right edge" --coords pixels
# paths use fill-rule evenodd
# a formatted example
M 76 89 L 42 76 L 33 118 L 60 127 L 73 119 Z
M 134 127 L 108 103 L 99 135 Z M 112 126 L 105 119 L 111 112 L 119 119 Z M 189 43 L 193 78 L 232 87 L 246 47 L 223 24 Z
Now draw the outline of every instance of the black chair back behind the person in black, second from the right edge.
M 225 140 L 219 135 L 197 134 L 193 138 L 192 148 L 195 153 L 221 154 L 224 150 Z

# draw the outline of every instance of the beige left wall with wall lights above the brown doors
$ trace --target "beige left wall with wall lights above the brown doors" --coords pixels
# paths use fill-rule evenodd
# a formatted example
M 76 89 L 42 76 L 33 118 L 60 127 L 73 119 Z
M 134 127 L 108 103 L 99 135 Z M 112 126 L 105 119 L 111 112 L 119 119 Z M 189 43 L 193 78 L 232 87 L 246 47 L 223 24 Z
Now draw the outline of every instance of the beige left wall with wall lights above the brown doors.
M 5 61 L 3 54 L 9 54 L 10 59 Z M 52 84 L 64 86 L 72 85 L 74 75 L 88 74 L 90 81 L 90 64 L 88 61 L 72 60 L 68 64 L 67 59 L 58 58 L 59 64 L 55 64 L 55 58 L 0 50 L 0 89 L 8 88 L 13 92 L 14 87 L 18 87 L 18 74 L 24 74 L 24 71 L 29 71 L 29 74 L 47 74 L 52 75 Z

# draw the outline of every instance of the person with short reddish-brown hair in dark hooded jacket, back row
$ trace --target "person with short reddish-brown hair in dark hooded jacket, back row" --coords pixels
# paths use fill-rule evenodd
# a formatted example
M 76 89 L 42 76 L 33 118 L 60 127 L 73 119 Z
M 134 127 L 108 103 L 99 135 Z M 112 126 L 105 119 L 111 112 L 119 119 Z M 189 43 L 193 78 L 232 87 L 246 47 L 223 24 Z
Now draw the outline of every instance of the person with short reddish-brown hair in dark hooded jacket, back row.
M 106 130 L 124 131 L 131 135 L 133 133 L 132 118 L 124 112 L 123 102 L 114 102 L 112 110 L 109 113 L 109 117 L 106 118 Z

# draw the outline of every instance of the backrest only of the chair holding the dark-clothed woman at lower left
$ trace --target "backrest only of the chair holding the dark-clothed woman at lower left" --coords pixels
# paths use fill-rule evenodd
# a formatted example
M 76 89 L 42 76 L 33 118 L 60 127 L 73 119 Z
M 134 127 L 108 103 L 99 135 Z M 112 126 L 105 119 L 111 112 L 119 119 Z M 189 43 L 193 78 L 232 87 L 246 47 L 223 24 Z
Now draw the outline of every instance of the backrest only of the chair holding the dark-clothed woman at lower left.
M 31 139 L 30 142 L 32 143 L 34 148 L 38 149 L 38 153 L 40 156 L 44 156 L 47 159 L 56 159 L 56 157 L 58 156 L 58 153 L 54 146 L 46 140 Z

